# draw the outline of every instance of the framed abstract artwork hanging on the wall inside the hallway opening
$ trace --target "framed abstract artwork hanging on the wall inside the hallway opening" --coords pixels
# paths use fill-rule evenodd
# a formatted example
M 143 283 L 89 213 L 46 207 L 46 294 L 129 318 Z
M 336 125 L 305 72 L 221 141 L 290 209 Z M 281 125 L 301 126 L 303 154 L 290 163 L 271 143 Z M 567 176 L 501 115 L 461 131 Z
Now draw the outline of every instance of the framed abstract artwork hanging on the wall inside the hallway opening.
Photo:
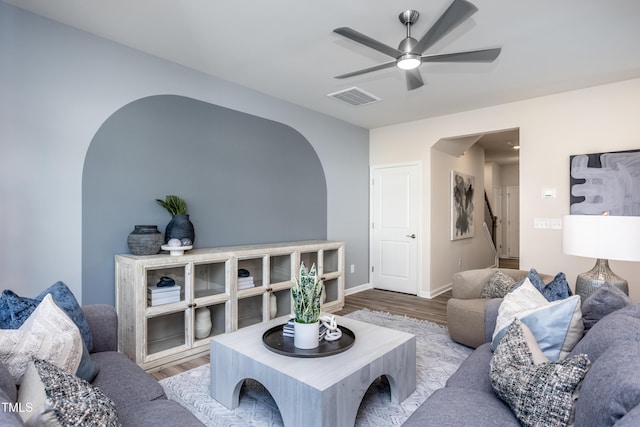
M 451 240 L 473 237 L 475 177 L 451 171 Z

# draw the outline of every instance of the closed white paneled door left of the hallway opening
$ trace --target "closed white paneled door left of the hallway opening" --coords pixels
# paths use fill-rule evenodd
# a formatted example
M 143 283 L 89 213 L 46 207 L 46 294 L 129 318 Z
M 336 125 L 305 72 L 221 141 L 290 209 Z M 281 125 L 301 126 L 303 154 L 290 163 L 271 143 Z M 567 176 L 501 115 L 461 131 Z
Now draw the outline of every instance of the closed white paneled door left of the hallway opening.
M 374 167 L 372 175 L 372 285 L 417 295 L 420 166 Z

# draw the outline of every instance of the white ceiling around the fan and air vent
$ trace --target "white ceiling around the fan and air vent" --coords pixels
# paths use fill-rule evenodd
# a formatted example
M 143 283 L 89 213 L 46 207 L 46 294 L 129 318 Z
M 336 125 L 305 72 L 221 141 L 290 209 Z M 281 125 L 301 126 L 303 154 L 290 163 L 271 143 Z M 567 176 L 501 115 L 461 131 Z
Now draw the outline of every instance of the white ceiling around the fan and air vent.
M 640 77 L 638 0 L 471 0 L 479 11 L 427 53 L 502 54 L 491 64 L 423 64 L 425 85 L 411 92 L 395 68 L 334 79 L 390 58 L 332 30 L 396 47 L 400 12 L 420 12 L 420 38 L 451 0 L 3 1 L 365 128 Z M 327 97 L 353 86 L 382 102 Z

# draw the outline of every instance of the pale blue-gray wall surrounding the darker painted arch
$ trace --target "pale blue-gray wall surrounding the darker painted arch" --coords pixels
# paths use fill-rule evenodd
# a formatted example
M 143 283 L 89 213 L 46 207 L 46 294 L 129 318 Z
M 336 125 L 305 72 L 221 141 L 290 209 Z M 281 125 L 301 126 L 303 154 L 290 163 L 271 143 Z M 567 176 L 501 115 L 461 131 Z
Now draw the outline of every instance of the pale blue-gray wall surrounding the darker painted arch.
M 106 297 L 113 292 L 113 285 L 107 288 L 101 285 L 104 279 L 85 278 L 82 274 L 85 269 L 106 271 L 113 265 L 115 255 L 105 253 L 83 259 L 82 224 L 93 221 L 83 213 L 85 159 L 91 156 L 92 141 L 100 136 L 102 126 L 114 113 L 135 101 L 167 94 L 279 123 L 283 125 L 282 132 L 291 128 L 302 135 L 301 143 L 313 147 L 324 171 L 326 237 L 346 244 L 346 287 L 369 282 L 368 129 L 126 48 L 1 1 L 0 94 L 3 289 L 37 295 L 62 280 L 83 303 L 113 300 L 111 295 Z M 326 101 L 336 102 L 329 98 Z M 189 163 L 185 161 L 179 168 L 188 168 Z M 119 172 L 116 167 L 113 169 Z M 166 193 L 169 190 L 166 188 Z M 125 194 L 127 191 L 127 187 L 119 190 Z M 114 233 L 118 234 L 114 238 L 122 239 L 119 244 L 123 250 L 126 234 L 135 223 L 158 223 L 162 227 L 169 219 L 150 200 L 162 194 L 155 190 L 153 193 L 145 191 L 144 197 L 132 197 L 144 199 L 147 205 L 128 208 L 134 215 L 122 219 L 123 231 Z M 197 229 L 206 233 L 206 226 L 202 230 L 206 218 L 201 215 L 198 197 L 181 194 L 189 199 Z M 112 193 L 102 196 L 120 197 Z M 145 212 L 158 216 L 147 218 Z M 212 237 L 216 234 L 214 230 L 211 233 Z M 352 264 L 354 273 L 349 269 Z

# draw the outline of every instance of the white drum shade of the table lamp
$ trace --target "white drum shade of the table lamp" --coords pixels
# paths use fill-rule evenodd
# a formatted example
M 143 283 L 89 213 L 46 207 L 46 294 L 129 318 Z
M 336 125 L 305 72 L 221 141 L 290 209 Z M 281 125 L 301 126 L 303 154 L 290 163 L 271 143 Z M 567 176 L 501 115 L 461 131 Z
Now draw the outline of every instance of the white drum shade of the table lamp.
M 563 253 L 640 261 L 640 217 L 565 215 L 562 222 Z

